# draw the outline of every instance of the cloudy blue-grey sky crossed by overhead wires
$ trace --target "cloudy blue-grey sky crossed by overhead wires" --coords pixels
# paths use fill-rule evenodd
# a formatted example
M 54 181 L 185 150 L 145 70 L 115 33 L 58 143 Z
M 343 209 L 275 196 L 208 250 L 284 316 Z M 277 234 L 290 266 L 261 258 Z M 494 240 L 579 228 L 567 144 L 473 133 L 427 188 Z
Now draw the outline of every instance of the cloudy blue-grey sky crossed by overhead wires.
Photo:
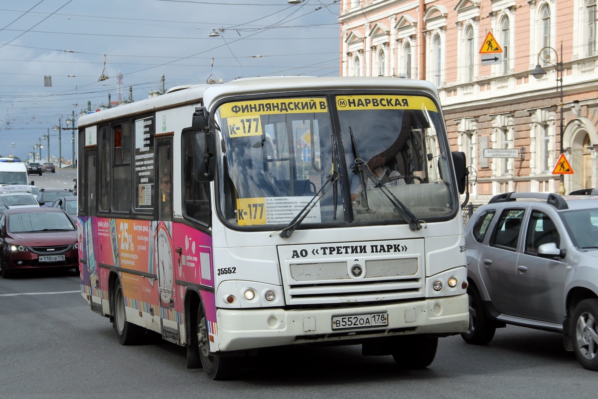
M 338 76 L 339 0 L 0 1 L 0 156 L 59 154 L 81 111 L 184 84 Z M 212 32 L 218 36 L 209 36 Z M 122 74 L 119 85 L 119 74 Z M 104 79 L 105 77 L 108 77 Z M 51 78 L 51 87 L 45 86 Z M 120 90 L 119 90 L 120 87 Z M 60 130 L 72 157 L 73 130 Z M 76 148 L 75 148 L 76 151 Z M 76 154 L 75 154 L 76 156 Z M 36 160 L 38 155 L 36 155 Z

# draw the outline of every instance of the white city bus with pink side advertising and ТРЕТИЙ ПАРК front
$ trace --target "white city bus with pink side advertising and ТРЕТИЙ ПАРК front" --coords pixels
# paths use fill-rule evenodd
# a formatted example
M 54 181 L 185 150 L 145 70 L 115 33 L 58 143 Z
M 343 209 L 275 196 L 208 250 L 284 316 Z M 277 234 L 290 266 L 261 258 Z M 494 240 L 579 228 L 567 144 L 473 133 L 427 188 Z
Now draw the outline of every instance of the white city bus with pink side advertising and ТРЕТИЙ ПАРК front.
M 465 159 L 426 81 L 176 87 L 79 138 L 81 290 L 121 344 L 152 330 L 227 379 L 315 343 L 426 367 L 468 329 Z

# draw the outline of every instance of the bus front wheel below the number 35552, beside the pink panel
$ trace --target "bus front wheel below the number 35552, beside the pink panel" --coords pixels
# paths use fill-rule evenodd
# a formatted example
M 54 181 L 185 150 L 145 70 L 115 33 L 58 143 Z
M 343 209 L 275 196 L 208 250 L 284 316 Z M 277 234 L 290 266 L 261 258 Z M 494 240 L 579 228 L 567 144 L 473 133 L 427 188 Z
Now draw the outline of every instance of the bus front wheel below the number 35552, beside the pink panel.
M 202 359 L 203 371 L 212 380 L 233 379 L 239 370 L 237 358 L 210 354 L 207 323 L 203 306 L 200 305 L 197 310 L 197 344 L 199 345 L 199 356 Z

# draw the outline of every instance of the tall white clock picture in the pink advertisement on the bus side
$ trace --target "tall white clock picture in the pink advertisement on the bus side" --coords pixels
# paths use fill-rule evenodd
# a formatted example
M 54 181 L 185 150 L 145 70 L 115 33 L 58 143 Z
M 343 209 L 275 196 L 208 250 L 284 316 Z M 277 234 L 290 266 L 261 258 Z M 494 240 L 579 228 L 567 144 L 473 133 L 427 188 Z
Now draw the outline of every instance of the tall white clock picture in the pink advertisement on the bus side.
M 175 275 L 172 258 L 172 239 L 164 222 L 160 222 L 154 235 L 154 270 L 158 275 L 158 291 L 163 307 L 172 307 Z

